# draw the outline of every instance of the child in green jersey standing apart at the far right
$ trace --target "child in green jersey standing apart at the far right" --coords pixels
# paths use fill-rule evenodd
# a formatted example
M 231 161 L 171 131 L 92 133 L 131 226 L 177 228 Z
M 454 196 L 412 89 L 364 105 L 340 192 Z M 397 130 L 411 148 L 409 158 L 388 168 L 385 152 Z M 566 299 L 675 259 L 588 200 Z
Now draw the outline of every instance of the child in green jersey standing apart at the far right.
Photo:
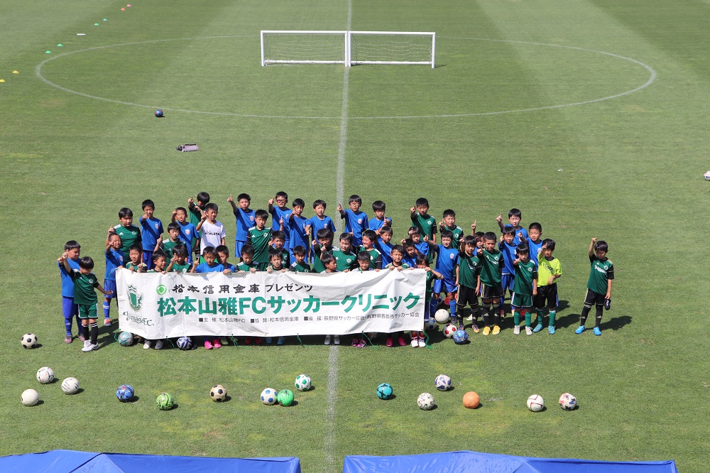
M 599 327 L 601 315 L 605 307 L 607 309 L 611 307 L 611 282 L 614 280 L 614 265 L 606 257 L 608 251 L 609 246 L 606 241 L 596 241 L 596 237 L 591 239 L 589 244 L 591 272 L 589 273 L 589 281 L 586 283 L 586 298 L 584 298 L 584 308 L 582 308 L 581 317 L 579 317 L 579 327 L 574 330 L 576 334 L 584 332 L 584 322 L 589 315 L 591 305 L 596 304 L 594 335 L 601 335 L 601 327 Z

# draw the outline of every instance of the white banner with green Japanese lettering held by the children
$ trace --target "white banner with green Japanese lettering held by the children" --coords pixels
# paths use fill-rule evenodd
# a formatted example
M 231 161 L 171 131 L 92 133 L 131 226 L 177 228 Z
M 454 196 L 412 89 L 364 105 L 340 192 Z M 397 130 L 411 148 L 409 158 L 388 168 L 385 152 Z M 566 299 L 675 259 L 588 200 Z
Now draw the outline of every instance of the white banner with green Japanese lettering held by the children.
M 116 271 L 119 328 L 147 339 L 422 330 L 425 271 Z

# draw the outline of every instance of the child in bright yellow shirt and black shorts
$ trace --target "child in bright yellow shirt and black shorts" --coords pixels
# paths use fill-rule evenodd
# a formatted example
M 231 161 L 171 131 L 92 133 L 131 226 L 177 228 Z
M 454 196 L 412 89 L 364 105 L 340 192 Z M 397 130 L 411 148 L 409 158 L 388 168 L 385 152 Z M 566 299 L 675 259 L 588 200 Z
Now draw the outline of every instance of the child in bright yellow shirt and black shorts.
M 545 310 L 545 300 L 547 300 L 547 311 L 550 312 L 550 322 L 547 324 L 547 332 L 550 335 L 555 333 L 555 315 L 557 314 L 557 279 L 562 277 L 562 266 L 559 259 L 552 256 L 555 251 L 555 240 L 546 238 L 542 240 L 540 254 L 537 255 L 537 295 L 535 295 L 534 305 L 537 311 L 537 325 L 532 332 L 542 330 L 542 316 Z M 533 261 L 535 263 L 535 261 Z M 525 317 L 525 323 L 529 325 L 530 320 Z M 525 333 L 530 335 L 528 328 Z

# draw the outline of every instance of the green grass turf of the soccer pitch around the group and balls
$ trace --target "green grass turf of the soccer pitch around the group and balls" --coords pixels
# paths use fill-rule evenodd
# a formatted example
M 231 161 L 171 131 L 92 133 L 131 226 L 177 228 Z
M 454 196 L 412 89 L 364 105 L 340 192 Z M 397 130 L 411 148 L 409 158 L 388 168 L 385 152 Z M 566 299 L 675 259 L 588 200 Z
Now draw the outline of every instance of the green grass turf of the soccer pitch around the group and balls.
M 249 192 L 260 208 L 286 190 L 291 200 L 326 200 L 330 215 L 342 198 L 336 178 L 343 68 L 261 67 L 258 31 L 342 29 L 346 2 L 157 0 L 120 7 L 99 0 L 3 3 L 1 455 L 53 448 L 295 455 L 304 471 L 331 472 L 345 455 L 471 449 L 673 458 L 682 472 L 706 469 L 706 2 L 354 1 L 354 29 L 436 31 L 437 68 L 349 71 L 345 197 L 362 195 L 366 210 L 385 200 L 398 238 L 421 195 L 437 217 L 454 208 L 464 228 L 476 219 L 479 229 L 495 229 L 498 213 L 521 208 L 523 224 L 541 222 L 544 237 L 557 241 L 563 308 L 554 337 L 513 337 L 508 320 L 498 337 L 475 335 L 466 347 L 438 339 L 433 349 L 342 347 L 332 405 L 329 349 L 316 337 L 305 339 L 306 347 L 155 352 L 121 348 L 102 329 L 105 346 L 88 355 L 76 342 L 62 342 L 54 261 L 65 241 L 77 239 L 102 278 L 104 234 L 119 207 L 138 212 L 149 197 L 166 222 L 172 207 L 207 190 L 222 206 L 219 219 L 231 239 L 230 193 Z M 50 60 L 43 77 L 144 107 L 71 94 L 35 75 L 40 62 L 87 48 L 99 49 Z M 648 64 L 657 78 L 634 94 L 577 107 L 364 118 L 584 102 L 649 78 L 634 62 L 592 51 Z M 165 119 L 155 119 L 153 107 L 166 109 Z M 174 151 L 195 141 L 200 153 Z M 609 242 L 617 268 L 613 308 L 602 337 L 577 336 L 594 236 Z M 42 346 L 21 349 L 24 332 L 35 332 Z M 84 391 L 65 396 L 58 383 L 38 387 L 33 376 L 45 365 L 59 379 L 76 376 Z M 297 406 L 258 403 L 261 389 L 290 386 L 302 372 L 315 388 L 297 394 Z M 439 373 L 452 376 L 454 390 L 434 393 L 435 411 L 419 411 L 417 395 L 432 392 Z M 395 387 L 393 401 L 376 399 L 383 381 Z M 125 382 L 136 388 L 136 403 L 114 398 Z M 228 403 L 209 400 L 216 383 L 229 390 Z M 38 388 L 42 405 L 18 403 L 29 387 Z M 461 407 L 469 390 L 481 394 L 476 411 Z M 162 391 L 175 394 L 177 409 L 155 408 Z M 555 406 L 564 391 L 577 396 L 579 410 Z M 545 398 L 547 411 L 525 409 L 531 393 Z

